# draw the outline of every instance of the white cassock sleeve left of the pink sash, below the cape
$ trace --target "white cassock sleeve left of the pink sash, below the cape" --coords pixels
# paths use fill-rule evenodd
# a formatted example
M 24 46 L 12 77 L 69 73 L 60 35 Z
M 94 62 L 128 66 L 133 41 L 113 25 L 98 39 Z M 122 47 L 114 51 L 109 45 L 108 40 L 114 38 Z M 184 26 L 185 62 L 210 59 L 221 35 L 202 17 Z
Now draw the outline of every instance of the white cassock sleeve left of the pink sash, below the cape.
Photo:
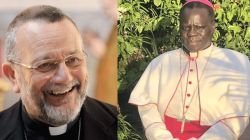
M 138 111 L 148 140 L 174 139 L 171 133 L 166 129 L 156 104 L 138 106 Z

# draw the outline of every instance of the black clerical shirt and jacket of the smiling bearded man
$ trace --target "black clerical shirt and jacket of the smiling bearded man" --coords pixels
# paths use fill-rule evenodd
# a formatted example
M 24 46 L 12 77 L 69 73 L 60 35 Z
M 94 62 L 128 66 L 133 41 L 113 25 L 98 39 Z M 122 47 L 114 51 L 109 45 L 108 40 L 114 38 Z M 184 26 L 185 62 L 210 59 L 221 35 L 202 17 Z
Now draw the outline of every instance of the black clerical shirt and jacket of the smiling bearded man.
M 25 132 L 27 140 L 77 140 L 80 119 L 80 140 L 117 140 L 117 114 L 115 107 L 86 97 L 80 115 L 68 124 L 66 133 L 50 136 L 48 125 L 31 120 L 19 101 L 0 113 L 0 140 L 25 140 Z

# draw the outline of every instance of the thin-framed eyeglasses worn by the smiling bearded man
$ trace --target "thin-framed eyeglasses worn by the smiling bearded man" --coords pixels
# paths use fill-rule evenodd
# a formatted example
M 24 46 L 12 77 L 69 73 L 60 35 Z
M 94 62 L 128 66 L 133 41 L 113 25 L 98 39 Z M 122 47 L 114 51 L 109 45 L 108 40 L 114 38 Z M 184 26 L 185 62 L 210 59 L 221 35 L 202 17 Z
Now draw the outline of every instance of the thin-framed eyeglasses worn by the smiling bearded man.
M 62 62 L 65 62 L 66 66 L 70 69 L 77 69 L 85 61 L 85 56 L 86 56 L 85 54 L 69 55 L 62 60 L 53 60 L 53 59 L 41 60 L 39 62 L 34 63 L 33 65 L 23 64 L 21 62 L 14 60 L 8 60 L 8 61 L 28 69 L 34 69 L 41 73 L 47 73 L 56 70 L 59 67 L 59 64 Z

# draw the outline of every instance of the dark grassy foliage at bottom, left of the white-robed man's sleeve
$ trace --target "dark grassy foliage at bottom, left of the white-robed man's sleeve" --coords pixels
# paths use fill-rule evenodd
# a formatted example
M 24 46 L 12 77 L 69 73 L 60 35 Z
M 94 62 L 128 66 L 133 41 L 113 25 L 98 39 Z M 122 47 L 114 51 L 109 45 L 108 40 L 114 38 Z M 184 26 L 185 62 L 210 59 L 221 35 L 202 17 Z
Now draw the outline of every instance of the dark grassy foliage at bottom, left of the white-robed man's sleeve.
M 118 140 L 141 140 L 132 126 L 125 121 L 126 116 L 118 115 Z

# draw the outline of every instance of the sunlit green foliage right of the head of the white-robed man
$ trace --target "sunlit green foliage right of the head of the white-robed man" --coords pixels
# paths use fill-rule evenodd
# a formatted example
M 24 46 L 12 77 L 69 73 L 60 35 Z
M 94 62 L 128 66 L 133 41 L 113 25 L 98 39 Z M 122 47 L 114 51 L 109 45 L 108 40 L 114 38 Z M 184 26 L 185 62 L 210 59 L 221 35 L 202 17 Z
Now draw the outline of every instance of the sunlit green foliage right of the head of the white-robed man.
M 216 10 L 217 31 L 213 41 L 246 54 L 250 58 L 250 1 L 213 0 Z

